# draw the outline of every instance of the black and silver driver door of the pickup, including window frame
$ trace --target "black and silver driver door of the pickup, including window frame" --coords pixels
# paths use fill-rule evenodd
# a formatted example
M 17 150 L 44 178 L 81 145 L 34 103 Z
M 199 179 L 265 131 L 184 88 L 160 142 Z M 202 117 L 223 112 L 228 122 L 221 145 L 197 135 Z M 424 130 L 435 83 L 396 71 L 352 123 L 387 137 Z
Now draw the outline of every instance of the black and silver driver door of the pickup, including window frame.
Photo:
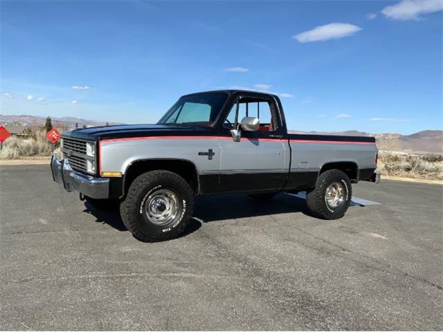
M 259 118 L 259 130 L 240 129 L 241 140 L 234 142 L 230 129 L 245 116 Z M 290 151 L 275 100 L 253 93 L 239 95 L 222 126 L 219 192 L 281 190 L 288 176 Z

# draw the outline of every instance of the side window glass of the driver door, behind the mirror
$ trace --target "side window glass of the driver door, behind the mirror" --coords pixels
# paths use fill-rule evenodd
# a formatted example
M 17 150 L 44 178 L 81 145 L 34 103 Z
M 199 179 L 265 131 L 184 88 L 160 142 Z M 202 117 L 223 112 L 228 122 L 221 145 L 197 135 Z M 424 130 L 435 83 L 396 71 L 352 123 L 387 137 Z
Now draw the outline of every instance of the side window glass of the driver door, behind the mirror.
M 223 126 L 225 128 L 233 129 L 235 124 L 235 109 L 237 104 L 233 104 L 230 109 Z M 251 100 L 248 102 L 240 102 L 238 109 L 238 122 L 246 116 L 246 109 L 248 116 L 254 116 L 260 120 L 259 131 L 274 131 L 275 121 L 273 121 L 273 113 L 271 111 L 271 104 L 266 100 Z

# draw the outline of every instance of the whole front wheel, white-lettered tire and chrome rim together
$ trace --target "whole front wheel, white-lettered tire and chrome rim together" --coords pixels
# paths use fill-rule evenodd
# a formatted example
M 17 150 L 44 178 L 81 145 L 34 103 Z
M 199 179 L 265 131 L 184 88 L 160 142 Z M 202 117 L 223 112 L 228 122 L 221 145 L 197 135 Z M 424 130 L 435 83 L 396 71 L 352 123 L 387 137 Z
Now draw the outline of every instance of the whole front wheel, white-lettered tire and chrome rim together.
M 145 242 L 178 237 L 194 210 L 194 193 L 179 175 L 156 170 L 141 174 L 129 186 L 120 215 L 134 237 Z

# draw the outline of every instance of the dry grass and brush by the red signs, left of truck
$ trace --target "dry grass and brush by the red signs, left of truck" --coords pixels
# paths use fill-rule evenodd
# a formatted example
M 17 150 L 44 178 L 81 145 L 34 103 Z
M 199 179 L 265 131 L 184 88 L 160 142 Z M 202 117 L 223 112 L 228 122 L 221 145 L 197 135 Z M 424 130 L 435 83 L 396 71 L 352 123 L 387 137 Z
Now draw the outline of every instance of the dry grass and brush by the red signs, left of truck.
M 0 159 L 17 159 L 29 156 L 50 156 L 53 145 L 48 142 L 46 133 L 34 131 L 30 138 L 10 137 L 3 142 Z

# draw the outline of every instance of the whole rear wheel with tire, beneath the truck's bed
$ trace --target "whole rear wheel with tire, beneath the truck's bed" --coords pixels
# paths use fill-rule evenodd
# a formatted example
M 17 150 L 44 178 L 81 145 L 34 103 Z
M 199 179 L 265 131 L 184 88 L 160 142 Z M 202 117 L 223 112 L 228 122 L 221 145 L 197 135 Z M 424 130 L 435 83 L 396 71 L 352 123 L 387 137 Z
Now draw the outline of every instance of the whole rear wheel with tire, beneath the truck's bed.
M 307 206 L 321 219 L 340 219 L 352 198 L 349 178 L 338 169 L 329 169 L 318 176 L 316 187 L 307 193 Z

